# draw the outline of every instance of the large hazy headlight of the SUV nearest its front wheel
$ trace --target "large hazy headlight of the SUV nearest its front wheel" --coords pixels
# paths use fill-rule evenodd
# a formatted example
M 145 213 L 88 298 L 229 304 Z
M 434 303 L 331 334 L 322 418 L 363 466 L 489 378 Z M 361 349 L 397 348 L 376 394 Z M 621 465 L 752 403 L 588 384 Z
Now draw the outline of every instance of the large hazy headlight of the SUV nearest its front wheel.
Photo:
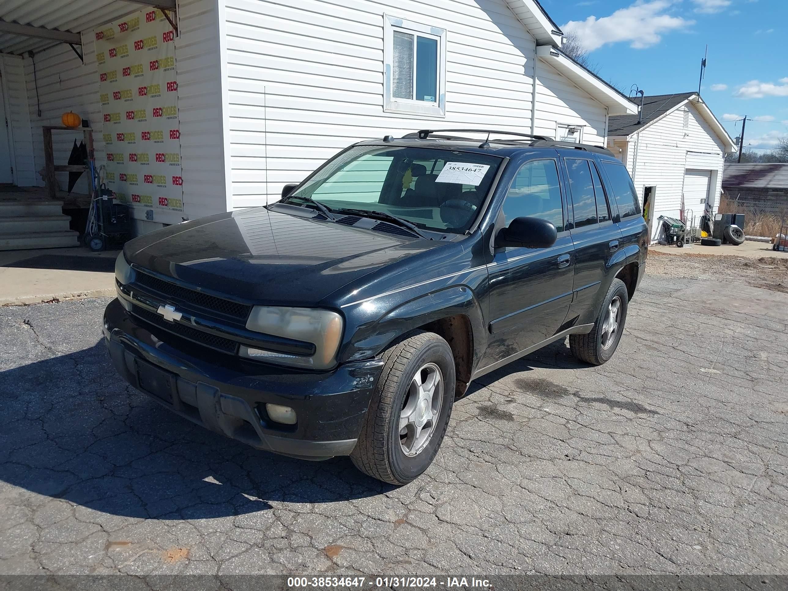
M 240 355 L 286 366 L 326 370 L 336 362 L 344 321 L 330 310 L 255 306 L 249 314 L 247 329 L 255 333 L 282 336 L 314 344 L 314 355 L 292 355 L 241 345 Z

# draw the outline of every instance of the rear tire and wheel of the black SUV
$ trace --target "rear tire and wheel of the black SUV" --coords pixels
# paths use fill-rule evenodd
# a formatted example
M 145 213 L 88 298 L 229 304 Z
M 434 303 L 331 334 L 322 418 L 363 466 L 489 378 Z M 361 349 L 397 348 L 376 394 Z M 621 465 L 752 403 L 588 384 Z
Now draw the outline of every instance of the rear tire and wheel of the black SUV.
M 618 299 L 618 318 L 615 327 L 615 333 L 610 334 L 608 331 L 608 312 L 611 311 L 611 306 Z M 597 314 L 597 320 L 593 324 L 593 329 L 588 334 L 573 334 L 569 336 L 569 350 L 572 355 L 591 363 L 595 366 L 600 366 L 604 362 L 611 359 L 615 353 L 615 349 L 619 346 L 621 340 L 621 333 L 623 333 L 624 324 L 626 323 L 626 308 L 629 304 L 629 296 L 626 292 L 626 285 L 620 279 L 614 279 L 608 289 L 608 294 L 604 296 L 604 302 Z

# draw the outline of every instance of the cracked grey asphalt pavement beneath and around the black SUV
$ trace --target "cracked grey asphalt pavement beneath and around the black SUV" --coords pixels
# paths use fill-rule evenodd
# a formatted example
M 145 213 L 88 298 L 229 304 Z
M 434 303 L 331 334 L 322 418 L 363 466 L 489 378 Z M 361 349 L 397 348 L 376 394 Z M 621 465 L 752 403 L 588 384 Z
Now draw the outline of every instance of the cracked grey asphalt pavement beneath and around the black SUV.
M 785 293 L 647 275 L 611 362 L 485 376 L 402 488 L 170 414 L 108 301 L 0 308 L 0 574 L 788 573 Z

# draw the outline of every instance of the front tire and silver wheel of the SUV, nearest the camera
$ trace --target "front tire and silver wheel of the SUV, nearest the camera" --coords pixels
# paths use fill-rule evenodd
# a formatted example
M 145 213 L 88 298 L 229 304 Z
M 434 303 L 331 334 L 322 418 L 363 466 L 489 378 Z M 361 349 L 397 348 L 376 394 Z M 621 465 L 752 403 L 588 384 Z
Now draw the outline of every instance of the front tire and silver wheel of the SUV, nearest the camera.
M 359 470 L 372 478 L 392 485 L 407 485 L 433 463 L 446 434 L 455 396 L 454 356 L 452 348 L 440 336 L 422 331 L 403 336 L 382 356 L 385 360 L 383 371 L 350 457 Z M 407 422 L 400 429 L 401 419 L 407 420 L 408 408 L 417 422 L 424 418 L 420 409 L 429 408 L 426 400 L 422 403 L 422 398 L 418 397 L 419 389 L 411 388 L 417 373 L 419 377 L 426 377 L 425 384 L 433 375 L 440 377 L 442 382 L 440 392 L 437 386 L 433 390 L 431 410 L 437 416 L 422 425 L 422 437 L 428 423 L 431 429 L 422 441 L 414 437 L 414 433 L 418 433 L 416 423 Z M 406 432 L 404 436 L 400 435 L 402 430 Z M 408 454 L 408 448 L 413 455 Z

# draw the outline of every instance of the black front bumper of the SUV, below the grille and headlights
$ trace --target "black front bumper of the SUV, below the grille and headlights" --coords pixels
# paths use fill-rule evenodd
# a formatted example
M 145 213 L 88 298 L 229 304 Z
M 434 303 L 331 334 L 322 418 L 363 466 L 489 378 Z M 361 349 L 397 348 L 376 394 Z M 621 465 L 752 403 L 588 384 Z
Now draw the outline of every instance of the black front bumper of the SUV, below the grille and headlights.
M 299 372 L 209 352 L 162 334 L 117 299 L 104 312 L 104 337 L 118 373 L 153 400 L 254 448 L 303 459 L 350 454 L 383 366 L 370 359 Z M 298 422 L 271 421 L 266 403 L 292 407 Z

